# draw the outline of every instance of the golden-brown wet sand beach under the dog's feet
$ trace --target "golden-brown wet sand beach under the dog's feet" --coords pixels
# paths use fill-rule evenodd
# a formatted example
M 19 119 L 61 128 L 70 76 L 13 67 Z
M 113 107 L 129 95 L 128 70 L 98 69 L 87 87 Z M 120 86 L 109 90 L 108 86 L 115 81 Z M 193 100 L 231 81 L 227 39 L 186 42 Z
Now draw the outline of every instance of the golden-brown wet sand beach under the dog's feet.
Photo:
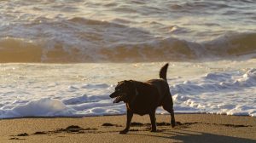
M 15 118 L 0 120 L 0 142 L 256 142 L 256 118 L 210 114 L 158 115 L 156 133 L 148 116 L 134 116 L 128 134 L 124 115 L 104 117 Z

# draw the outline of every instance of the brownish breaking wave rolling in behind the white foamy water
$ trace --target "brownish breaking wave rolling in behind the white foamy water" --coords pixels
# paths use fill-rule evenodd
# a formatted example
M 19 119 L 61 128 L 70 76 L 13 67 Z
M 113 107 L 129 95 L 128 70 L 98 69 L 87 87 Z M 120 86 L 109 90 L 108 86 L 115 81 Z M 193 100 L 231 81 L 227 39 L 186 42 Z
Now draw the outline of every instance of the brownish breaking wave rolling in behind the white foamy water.
M 6 28 L 0 37 L 0 62 L 181 61 L 256 54 L 256 33 L 229 33 L 195 43 L 79 17 L 55 22 L 38 18 L 13 27 L 20 31 Z

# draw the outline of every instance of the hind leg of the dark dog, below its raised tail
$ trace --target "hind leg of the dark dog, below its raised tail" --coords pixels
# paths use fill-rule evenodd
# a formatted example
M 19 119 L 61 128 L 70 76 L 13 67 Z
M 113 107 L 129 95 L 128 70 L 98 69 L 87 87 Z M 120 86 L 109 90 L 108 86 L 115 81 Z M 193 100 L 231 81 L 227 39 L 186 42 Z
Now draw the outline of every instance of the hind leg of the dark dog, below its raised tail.
M 170 112 L 172 128 L 175 127 L 175 117 L 174 117 L 174 112 L 173 112 L 173 102 L 172 102 L 172 95 L 171 95 L 170 92 L 168 92 L 168 95 L 163 100 L 162 106 L 163 106 L 163 108 L 167 112 Z

